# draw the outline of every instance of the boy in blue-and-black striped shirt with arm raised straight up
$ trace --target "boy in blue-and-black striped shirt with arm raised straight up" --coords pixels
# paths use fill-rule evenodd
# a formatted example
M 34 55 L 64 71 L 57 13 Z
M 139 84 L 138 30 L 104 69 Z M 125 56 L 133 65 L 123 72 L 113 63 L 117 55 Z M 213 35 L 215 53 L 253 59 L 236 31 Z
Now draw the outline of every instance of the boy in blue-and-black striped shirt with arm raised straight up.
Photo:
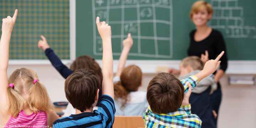
M 113 89 L 113 57 L 111 46 L 111 27 L 99 17 L 96 19 L 98 32 L 102 38 L 102 99 L 97 110 L 100 80 L 92 70 L 79 69 L 68 76 L 65 81 L 65 94 L 68 101 L 76 109 L 75 114 L 63 117 L 54 122 L 53 128 L 94 127 L 112 128 L 114 123 L 114 89 Z

